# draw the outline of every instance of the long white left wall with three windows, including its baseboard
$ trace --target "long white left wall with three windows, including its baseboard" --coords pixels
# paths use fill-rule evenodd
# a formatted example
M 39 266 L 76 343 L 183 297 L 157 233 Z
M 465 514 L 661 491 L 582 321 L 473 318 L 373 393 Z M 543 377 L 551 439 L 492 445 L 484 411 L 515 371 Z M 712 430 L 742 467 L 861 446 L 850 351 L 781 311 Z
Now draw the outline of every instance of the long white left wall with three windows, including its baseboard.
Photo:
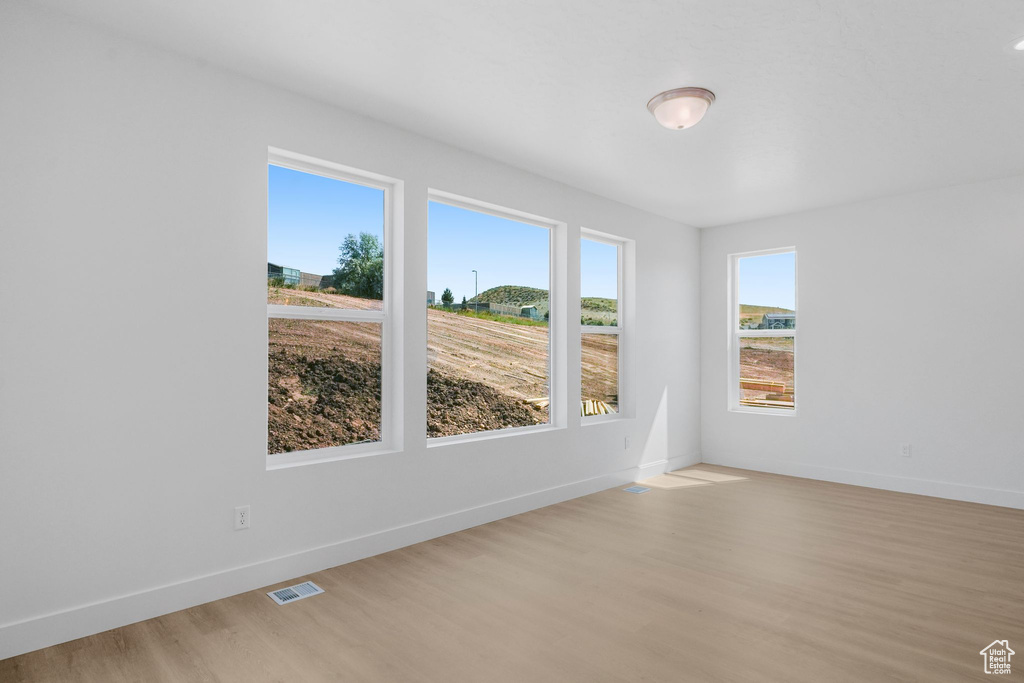
M 0 141 L 0 657 L 699 460 L 690 227 L 20 2 Z M 402 453 L 265 470 L 268 145 L 406 182 Z M 635 420 L 426 449 L 428 186 L 636 240 Z

